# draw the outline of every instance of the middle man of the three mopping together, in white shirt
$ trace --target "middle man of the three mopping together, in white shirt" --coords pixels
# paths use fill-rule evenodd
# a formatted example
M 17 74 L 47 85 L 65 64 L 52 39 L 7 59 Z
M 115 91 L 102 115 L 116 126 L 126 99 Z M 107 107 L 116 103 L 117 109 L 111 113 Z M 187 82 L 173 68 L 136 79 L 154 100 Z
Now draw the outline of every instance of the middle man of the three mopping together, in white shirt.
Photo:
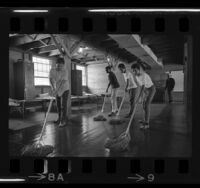
M 132 74 L 131 72 L 126 70 L 126 67 L 124 64 L 122 64 L 122 63 L 119 64 L 118 68 L 121 71 L 121 73 L 123 74 L 124 80 L 126 82 L 125 92 L 129 93 L 130 111 L 126 115 L 126 118 L 130 118 L 131 114 L 133 112 L 133 109 L 134 109 L 136 99 L 139 95 L 139 91 L 140 91 L 139 87 L 140 87 L 141 83 L 139 83 L 140 81 L 135 77 L 134 74 Z

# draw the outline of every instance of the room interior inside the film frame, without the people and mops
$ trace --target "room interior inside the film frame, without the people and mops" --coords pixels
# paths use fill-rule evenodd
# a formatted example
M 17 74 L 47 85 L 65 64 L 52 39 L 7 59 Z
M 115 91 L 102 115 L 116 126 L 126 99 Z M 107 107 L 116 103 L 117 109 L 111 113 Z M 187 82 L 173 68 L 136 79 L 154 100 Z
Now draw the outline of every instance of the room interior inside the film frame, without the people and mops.
M 69 78 L 68 117 L 59 127 L 56 97 L 50 71 L 59 58 Z M 111 152 L 106 138 L 120 135 L 129 123 L 126 80 L 118 65 L 142 63 L 156 92 L 150 104 L 149 129 L 140 128 L 142 99 L 131 121 L 129 148 Z M 111 66 L 119 88 L 116 96 L 121 124 L 112 125 L 111 90 L 105 69 Z M 166 89 L 168 78 L 174 87 Z M 9 150 L 21 156 L 24 146 L 40 137 L 46 115 L 43 142 L 54 147 L 48 157 L 189 157 L 191 148 L 192 37 L 142 34 L 10 34 L 9 35 Z M 105 97 L 106 96 L 106 97 Z M 47 113 L 50 101 L 52 106 Z M 104 103 L 105 102 L 105 103 Z M 104 104 L 104 105 L 103 105 Z M 103 112 L 102 106 L 104 106 Z M 94 121 L 102 114 L 105 121 Z

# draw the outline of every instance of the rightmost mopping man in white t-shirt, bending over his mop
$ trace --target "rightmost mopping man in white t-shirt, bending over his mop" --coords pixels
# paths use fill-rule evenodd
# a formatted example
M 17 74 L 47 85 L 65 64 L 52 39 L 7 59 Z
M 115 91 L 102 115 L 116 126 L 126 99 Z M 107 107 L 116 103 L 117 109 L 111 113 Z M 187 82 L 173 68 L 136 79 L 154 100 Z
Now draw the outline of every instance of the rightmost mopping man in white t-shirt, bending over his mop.
M 144 121 L 140 121 L 142 124 L 140 128 L 149 128 L 150 120 L 150 104 L 156 92 L 156 88 L 150 78 L 150 76 L 145 72 L 145 68 L 140 64 L 136 63 L 131 66 L 133 72 L 135 72 L 136 77 L 140 80 L 142 84 L 141 92 L 145 93 L 145 99 L 143 100 L 144 109 Z

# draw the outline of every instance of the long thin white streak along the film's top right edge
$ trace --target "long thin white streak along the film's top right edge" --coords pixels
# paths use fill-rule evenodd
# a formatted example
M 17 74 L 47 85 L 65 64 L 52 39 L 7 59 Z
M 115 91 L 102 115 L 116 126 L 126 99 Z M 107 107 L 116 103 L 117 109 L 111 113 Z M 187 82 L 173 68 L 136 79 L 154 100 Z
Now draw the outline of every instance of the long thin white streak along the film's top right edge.
M 200 9 L 90 9 L 89 12 L 200 12 Z

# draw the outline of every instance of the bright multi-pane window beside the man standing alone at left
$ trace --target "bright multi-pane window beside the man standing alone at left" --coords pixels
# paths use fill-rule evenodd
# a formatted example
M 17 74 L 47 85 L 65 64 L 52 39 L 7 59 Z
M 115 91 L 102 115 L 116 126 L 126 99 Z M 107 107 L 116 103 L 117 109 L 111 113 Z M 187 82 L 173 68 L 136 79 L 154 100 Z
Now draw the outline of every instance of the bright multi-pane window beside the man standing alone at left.
M 51 69 L 51 64 L 49 59 L 41 57 L 33 57 L 34 63 L 34 82 L 35 86 L 43 85 L 49 86 L 49 72 Z

